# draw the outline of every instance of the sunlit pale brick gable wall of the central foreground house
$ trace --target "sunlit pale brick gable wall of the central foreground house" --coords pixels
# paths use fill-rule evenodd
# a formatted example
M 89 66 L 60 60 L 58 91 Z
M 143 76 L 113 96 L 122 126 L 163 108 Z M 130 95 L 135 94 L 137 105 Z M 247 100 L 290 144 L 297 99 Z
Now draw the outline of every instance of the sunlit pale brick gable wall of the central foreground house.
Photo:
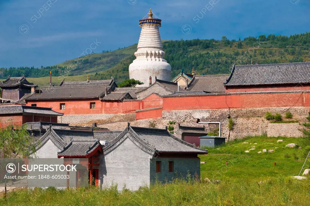
M 138 190 L 150 184 L 150 159 L 152 155 L 141 150 L 129 138 L 107 155 L 100 156 L 99 184 L 102 188 L 117 184 Z

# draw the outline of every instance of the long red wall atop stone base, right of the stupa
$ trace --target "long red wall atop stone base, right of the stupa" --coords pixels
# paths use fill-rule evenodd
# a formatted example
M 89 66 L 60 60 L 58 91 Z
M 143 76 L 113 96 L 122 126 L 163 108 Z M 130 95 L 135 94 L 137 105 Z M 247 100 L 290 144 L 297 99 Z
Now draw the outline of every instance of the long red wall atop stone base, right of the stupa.
M 163 110 L 309 106 L 310 93 L 236 94 L 163 98 Z

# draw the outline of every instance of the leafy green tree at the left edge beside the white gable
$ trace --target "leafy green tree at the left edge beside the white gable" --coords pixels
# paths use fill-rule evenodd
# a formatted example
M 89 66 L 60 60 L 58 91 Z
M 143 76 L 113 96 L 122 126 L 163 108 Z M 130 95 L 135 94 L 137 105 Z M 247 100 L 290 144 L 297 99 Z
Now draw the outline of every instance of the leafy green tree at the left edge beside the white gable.
M 7 127 L 0 128 L 1 158 L 24 158 L 35 153 L 35 141 L 27 131 L 27 127 L 27 124 L 9 124 Z M 5 181 L 5 194 L 6 186 Z

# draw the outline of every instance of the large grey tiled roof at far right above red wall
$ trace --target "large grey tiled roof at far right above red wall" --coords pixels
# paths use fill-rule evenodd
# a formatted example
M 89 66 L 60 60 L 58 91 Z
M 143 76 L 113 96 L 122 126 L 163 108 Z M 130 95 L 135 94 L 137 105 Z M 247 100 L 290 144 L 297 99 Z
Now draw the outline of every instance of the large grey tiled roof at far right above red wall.
M 225 86 L 310 83 L 310 62 L 235 65 Z

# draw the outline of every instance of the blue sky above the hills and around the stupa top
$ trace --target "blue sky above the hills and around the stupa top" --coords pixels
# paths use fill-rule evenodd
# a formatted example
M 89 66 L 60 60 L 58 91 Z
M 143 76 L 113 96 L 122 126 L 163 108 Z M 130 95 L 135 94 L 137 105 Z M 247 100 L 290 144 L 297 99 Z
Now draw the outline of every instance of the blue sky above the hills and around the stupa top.
M 310 30 L 309 0 L 0 0 L 0 67 L 55 65 L 94 41 L 96 53 L 130 46 L 149 8 L 165 40 Z

